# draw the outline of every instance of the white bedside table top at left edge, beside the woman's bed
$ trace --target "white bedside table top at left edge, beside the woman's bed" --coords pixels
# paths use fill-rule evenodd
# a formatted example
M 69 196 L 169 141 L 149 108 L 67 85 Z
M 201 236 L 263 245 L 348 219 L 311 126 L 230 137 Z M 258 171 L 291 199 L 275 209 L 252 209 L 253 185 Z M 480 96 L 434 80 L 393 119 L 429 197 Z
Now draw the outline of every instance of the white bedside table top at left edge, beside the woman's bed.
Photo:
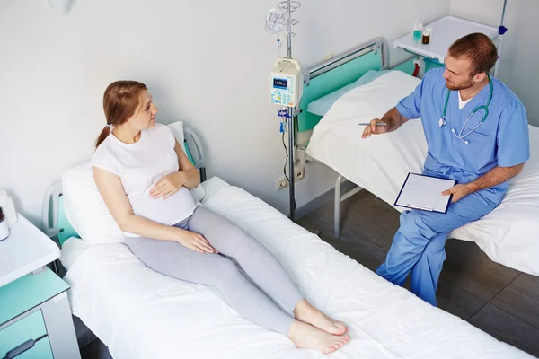
M 9 231 L 0 241 L 0 286 L 60 258 L 57 244 L 21 214 Z

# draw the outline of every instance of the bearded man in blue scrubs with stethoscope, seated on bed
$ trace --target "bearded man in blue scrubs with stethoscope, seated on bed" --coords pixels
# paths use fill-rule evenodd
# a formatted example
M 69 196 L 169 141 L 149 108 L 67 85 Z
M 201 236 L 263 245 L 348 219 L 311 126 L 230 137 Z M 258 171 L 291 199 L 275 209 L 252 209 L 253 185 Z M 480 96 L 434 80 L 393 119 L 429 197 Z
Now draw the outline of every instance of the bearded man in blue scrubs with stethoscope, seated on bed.
M 396 285 L 411 274 L 411 292 L 436 306 L 449 232 L 487 215 L 530 157 L 526 109 L 515 93 L 489 75 L 497 50 L 484 34 L 458 39 L 445 68 L 425 74 L 414 92 L 373 119 L 363 138 L 392 132 L 421 118 L 429 153 L 423 173 L 457 180 L 446 214 L 405 211 L 385 262 L 376 269 Z M 384 122 L 386 126 L 376 125 Z

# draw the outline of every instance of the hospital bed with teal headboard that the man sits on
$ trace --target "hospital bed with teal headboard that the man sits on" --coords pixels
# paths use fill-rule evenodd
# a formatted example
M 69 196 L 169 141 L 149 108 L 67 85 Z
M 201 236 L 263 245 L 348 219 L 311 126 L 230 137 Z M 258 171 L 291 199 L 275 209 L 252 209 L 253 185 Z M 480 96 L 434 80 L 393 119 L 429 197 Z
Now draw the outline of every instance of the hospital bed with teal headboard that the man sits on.
M 376 39 L 356 52 L 337 57 L 336 63 L 315 66 L 304 86 L 306 103 L 298 126 L 300 131 L 313 129 L 307 155 L 339 173 L 335 185 L 336 237 L 340 202 L 364 188 L 393 206 L 406 175 L 421 173 L 427 155 L 420 119 L 407 122 L 394 133 L 361 139 L 364 127 L 358 123 L 381 118 L 420 83 L 407 74 L 410 63 L 387 71 L 385 57 L 380 56 L 383 47 L 383 39 Z M 539 275 L 539 128 L 530 126 L 529 133 L 531 159 L 524 171 L 510 180 L 501 204 L 481 220 L 451 232 L 449 238 L 475 241 L 495 262 Z M 345 179 L 358 187 L 341 193 L 340 184 Z

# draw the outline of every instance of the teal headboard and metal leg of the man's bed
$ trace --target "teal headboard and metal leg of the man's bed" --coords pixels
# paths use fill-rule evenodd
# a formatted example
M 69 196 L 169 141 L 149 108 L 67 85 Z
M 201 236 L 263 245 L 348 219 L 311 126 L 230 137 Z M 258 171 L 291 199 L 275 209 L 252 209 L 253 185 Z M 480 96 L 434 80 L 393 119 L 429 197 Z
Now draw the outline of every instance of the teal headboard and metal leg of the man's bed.
M 309 103 L 339 90 L 349 83 L 354 83 L 369 70 L 388 69 L 386 47 L 383 38 L 376 38 L 308 69 L 304 74 L 303 96 L 296 112 L 296 131 L 298 133 L 310 131 L 322 119 L 322 116 L 307 111 Z M 431 68 L 444 66 L 437 60 L 425 58 L 424 61 L 425 72 Z M 414 67 L 412 58 L 393 67 L 392 70 L 412 74 Z M 333 235 L 337 238 L 340 236 L 340 203 L 361 190 L 361 188 L 356 187 L 341 193 L 340 186 L 344 180 L 346 179 L 339 173 L 334 188 Z

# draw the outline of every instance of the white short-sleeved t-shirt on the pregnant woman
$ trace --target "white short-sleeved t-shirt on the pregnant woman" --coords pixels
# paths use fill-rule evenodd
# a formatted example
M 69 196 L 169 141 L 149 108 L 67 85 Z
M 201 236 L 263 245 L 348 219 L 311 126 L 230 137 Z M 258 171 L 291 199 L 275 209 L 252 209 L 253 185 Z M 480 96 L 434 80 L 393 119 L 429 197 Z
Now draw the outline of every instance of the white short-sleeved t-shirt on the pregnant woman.
M 110 133 L 93 153 L 92 165 L 119 176 L 135 215 L 172 225 L 192 215 L 197 206 L 185 187 L 167 199 L 150 197 L 158 180 L 179 170 L 175 143 L 170 128 L 162 124 L 141 131 L 135 144 L 124 144 Z

